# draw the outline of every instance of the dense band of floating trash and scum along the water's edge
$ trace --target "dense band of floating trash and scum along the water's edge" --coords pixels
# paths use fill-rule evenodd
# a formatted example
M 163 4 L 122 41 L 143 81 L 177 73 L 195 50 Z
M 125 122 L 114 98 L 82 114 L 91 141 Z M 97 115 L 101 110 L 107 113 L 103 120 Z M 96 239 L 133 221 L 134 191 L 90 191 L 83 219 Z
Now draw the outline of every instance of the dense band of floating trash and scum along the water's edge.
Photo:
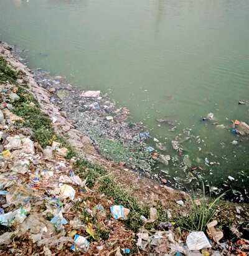
M 16 53 L 19 61 L 24 62 L 25 54 L 24 59 L 20 58 L 20 52 L 21 50 L 15 47 L 14 54 Z M 69 120 L 75 130 L 86 135 L 84 140 L 92 145 L 96 149 L 95 153 L 101 154 L 104 159 L 114 161 L 116 164 L 120 163 L 126 169 L 133 169 L 139 175 L 154 179 L 162 186 L 166 185 L 186 192 L 192 189 L 201 191 L 202 180 L 207 179 L 210 182 L 207 184 L 209 187 L 207 192 L 212 196 L 215 197 L 230 187 L 231 190 L 227 192 L 226 199 L 239 203 L 248 201 L 247 191 L 240 189 L 238 182 L 231 182 L 228 178 L 220 179 L 219 184 L 212 184 L 209 180 L 211 177 L 209 168 L 206 166 L 210 165 L 205 163 L 206 160 L 202 158 L 203 162 L 200 163 L 199 157 L 190 156 L 188 151 L 184 150 L 186 146 L 184 141 L 194 140 L 197 143 L 201 141 L 200 136 L 195 136 L 190 130 L 183 129 L 181 136 L 176 135 L 173 138 L 171 146 L 175 154 L 171 152 L 169 155 L 167 151 L 161 151 L 164 145 L 156 138 L 154 138 L 154 141 L 158 141 L 156 146 L 152 145 L 155 148 L 149 146 L 151 143 L 146 144 L 146 141 L 153 139 L 150 139 L 151 136 L 147 129 L 144 129 L 143 123 L 129 122 L 129 110 L 125 107 L 117 108 L 115 102 L 110 100 L 106 93 L 102 95 L 100 92 L 98 97 L 83 97 L 83 89 L 68 84 L 65 77 L 50 76 L 49 72 L 42 69 L 34 69 L 31 72 L 35 82 L 49 93 L 50 102 L 63 113 L 63 117 Z M 56 116 L 51 118 L 54 118 L 56 123 Z M 165 120 L 157 121 L 163 124 Z M 67 136 L 68 125 L 63 129 L 62 133 Z M 83 139 L 77 136 L 75 138 L 77 140 L 74 141 L 70 138 L 72 145 L 82 148 L 82 143 L 78 141 Z M 157 146 L 161 149 L 157 150 Z M 89 149 L 88 153 L 95 154 L 92 149 Z M 210 164 L 219 164 L 216 161 L 213 162 Z M 239 179 L 243 179 L 243 174 L 238 174 L 236 180 Z M 239 191 L 240 196 L 238 197 L 236 192 L 232 191 Z

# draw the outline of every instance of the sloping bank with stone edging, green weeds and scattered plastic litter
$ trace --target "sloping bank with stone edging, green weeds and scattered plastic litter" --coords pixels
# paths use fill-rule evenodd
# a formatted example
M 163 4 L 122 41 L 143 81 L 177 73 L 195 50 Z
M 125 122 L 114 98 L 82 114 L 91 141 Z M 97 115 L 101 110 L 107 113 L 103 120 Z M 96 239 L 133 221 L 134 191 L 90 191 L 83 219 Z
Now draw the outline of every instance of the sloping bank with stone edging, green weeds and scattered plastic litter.
M 248 204 L 204 188 L 189 195 L 103 158 L 3 42 L 0 85 L 1 255 L 247 254 Z M 113 206 L 129 211 L 116 219 Z M 221 231 L 207 232 L 212 220 Z M 190 231 L 205 232 L 211 247 L 192 252 Z

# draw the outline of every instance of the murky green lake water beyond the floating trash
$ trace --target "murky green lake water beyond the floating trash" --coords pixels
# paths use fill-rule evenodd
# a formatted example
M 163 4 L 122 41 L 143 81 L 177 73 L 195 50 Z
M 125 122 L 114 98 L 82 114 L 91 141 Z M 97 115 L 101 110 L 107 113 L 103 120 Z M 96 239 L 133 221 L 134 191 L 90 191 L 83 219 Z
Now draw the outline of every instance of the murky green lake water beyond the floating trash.
M 1 0 L 0 39 L 29 49 L 31 68 L 82 89 L 111 90 L 165 154 L 176 154 L 171 140 L 191 129 L 203 140 L 183 144 L 192 167 L 201 166 L 214 186 L 232 176 L 228 187 L 245 196 L 249 141 L 233 135 L 230 120 L 249 123 L 249 105 L 238 105 L 249 102 L 248 13 L 248 0 Z M 200 121 L 210 112 L 224 129 Z M 166 169 L 169 179 L 185 175 Z

